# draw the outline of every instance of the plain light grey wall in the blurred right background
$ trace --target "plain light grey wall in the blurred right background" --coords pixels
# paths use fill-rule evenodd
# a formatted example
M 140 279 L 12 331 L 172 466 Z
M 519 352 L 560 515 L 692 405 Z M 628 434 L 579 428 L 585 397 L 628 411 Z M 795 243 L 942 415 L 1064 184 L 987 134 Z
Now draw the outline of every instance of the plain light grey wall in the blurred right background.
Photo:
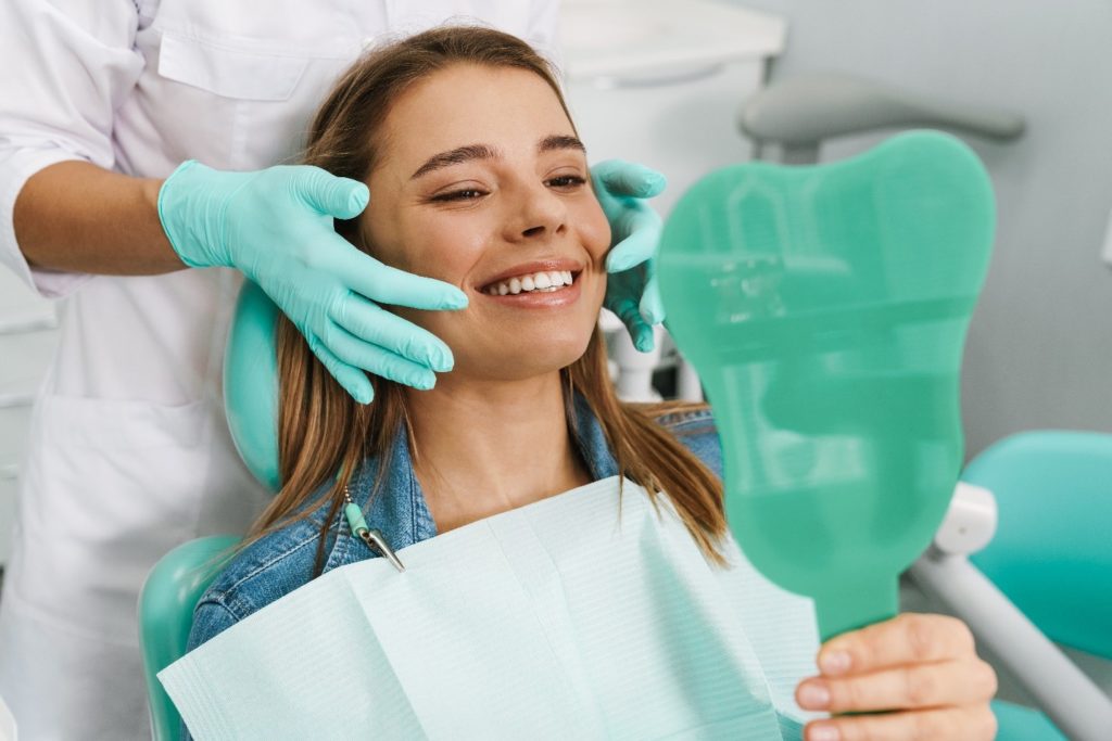
M 966 452 L 1031 428 L 1112 430 L 1112 2 L 726 0 L 787 20 L 772 80 L 837 70 L 1009 109 L 1017 142 L 974 139 L 999 231 L 970 329 Z M 887 134 L 824 148 L 823 159 Z

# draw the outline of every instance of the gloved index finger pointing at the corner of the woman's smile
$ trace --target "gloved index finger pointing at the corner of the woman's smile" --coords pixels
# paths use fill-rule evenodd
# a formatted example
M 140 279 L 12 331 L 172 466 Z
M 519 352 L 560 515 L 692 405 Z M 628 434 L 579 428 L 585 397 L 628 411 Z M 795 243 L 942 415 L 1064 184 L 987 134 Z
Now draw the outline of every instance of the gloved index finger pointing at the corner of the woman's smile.
M 376 303 L 427 310 L 467 306 L 467 294 L 451 283 L 391 268 L 355 248 L 340 254 L 337 274 L 353 291 Z

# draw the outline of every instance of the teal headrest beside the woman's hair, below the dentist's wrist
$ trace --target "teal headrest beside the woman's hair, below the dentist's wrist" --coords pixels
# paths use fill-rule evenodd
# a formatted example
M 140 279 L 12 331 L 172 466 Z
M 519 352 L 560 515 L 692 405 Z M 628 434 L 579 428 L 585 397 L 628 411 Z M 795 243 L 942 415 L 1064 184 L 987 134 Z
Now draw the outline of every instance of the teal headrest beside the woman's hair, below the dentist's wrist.
M 244 282 L 228 332 L 224 401 L 228 429 L 248 470 L 278 491 L 278 307 L 262 289 Z

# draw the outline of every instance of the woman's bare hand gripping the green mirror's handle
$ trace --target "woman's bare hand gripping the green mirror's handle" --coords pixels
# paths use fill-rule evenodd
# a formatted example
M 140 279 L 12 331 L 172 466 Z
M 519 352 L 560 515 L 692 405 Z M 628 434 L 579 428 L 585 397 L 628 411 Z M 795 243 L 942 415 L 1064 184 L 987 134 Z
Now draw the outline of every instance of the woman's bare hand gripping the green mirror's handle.
M 843 633 L 823 644 L 818 670 L 796 702 L 836 717 L 808 723 L 806 741 L 995 738 L 996 673 L 956 618 L 907 613 Z M 842 715 L 874 711 L 891 712 Z

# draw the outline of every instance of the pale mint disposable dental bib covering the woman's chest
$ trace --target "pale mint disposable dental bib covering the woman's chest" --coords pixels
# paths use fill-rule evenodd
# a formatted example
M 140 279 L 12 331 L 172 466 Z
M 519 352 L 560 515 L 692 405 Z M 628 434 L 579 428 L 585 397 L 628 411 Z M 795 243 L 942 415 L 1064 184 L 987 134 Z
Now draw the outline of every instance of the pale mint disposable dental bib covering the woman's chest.
M 812 603 L 722 551 L 612 477 L 330 571 L 159 679 L 199 740 L 797 739 Z

